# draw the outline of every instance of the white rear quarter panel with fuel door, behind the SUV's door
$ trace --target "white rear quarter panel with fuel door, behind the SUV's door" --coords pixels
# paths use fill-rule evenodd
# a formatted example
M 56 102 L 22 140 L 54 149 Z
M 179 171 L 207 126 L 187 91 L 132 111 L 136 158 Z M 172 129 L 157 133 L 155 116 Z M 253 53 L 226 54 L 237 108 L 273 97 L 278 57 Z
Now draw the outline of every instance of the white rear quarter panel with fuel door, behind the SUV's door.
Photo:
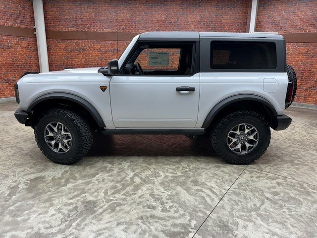
M 271 90 L 265 92 L 264 79 L 268 83 L 277 82 Z M 275 79 L 275 80 L 272 80 Z M 239 94 L 251 94 L 269 101 L 278 115 L 285 109 L 285 96 L 288 84 L 287 73 L 256 73 L 256 72 L 206 72 L 200 75 L 200 101 L 196 127 L 201 127 L 211 109 L 222 100 Z M 268 91 L 268 90 L 266 90 Z

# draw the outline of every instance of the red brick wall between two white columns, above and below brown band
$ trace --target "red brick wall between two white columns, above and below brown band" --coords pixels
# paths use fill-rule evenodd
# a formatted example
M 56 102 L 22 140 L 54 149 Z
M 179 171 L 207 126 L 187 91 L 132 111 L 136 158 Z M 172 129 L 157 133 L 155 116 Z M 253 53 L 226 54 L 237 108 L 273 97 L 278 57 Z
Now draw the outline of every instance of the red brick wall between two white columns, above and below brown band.
M 245 32 L 250 0 L 44 0 L 47 30 Z M 221 18 L 221 20 L 220 20 Z M 106 65 L 129 42 L 48 40 L 50 70 Z

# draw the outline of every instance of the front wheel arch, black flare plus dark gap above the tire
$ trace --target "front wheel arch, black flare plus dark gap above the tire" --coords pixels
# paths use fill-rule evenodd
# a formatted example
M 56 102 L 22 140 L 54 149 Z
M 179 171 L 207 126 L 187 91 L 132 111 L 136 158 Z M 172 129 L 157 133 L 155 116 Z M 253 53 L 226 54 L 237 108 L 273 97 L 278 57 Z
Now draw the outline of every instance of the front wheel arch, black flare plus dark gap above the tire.
M 70 93 L 49 93 L 42 95 L 33 100 L 26 111 L 28 113 L 32 112 L 45 105 L 50 105 L 50 103 L 56 100 L 61 105 L 75 105 L 76 107 L 83 109 L 84 111 L 82 111 L 82 113 L 86 113 L 89 117 L 91 117 L 96 125 L 98 125 L 99 127 L 106 127 L 104 120 L 102 119 L 96 108 L 91 105 L 91 103 L 77 95 Z

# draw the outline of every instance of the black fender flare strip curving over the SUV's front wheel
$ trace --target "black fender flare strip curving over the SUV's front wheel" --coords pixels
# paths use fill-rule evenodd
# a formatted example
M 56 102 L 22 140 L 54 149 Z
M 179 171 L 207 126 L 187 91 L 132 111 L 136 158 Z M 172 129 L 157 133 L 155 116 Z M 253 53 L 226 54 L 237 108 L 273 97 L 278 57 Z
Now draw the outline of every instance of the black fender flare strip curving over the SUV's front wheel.
M 48 93 L 48 94 L 42 95 L 42 96 L 36 98 L 29 105 L 29 107 L 27 108 L 26 112 L 28 112 L 28 113 L 31 112 L 36 105 L 38 105 L 39 103 L 44 102 L 46 100 L 50 100 L 50 99 L 65 99 L 65 100 L 69 100 L 71 102 L 77 103 L 80 106 L 82 106 L 83 108 L 85 108 L 90 113 L 90 115 L 97 122 L 98 126 L 106 127 L 104 120 L 102 119 L 102 117 L 100 116 L 100 114 L 94 108 L 93 105 L 91 105 L 85 99 L 83 99 L 83 98 L 81 98 L 79 96 L 76 96 L 74 94 L 70 94 L 70 93 Z

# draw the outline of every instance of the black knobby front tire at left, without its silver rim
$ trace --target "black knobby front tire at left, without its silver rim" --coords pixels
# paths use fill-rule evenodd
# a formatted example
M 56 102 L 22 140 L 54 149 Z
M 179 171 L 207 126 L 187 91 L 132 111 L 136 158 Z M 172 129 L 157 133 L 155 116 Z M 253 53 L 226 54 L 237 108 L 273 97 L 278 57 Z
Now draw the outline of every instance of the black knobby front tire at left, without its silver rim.
M 63 123 L 72 134 L 72 146 L 63 154 L 54 152 L 44 139 L 44 130 L 52 121 Z M 92 128 L 87 121 L 70 110 L 59 108 L 49 109 L 37 117 L 34 135 L 42 153 L 53 162 L 64 165 L 71 165 L 79 161 L 88 153 L 93 144 Z

